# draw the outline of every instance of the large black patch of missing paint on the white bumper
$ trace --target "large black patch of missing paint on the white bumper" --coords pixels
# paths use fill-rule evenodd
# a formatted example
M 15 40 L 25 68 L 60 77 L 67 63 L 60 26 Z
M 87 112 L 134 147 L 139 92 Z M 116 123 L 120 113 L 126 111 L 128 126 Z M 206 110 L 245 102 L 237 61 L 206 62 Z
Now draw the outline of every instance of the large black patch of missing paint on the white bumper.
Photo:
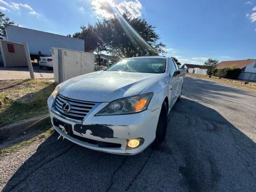
M 74 131 L 80 134 L 86 134 L 87 130 L 92 132 L 91 135 L 100 137 L 100 138 L 114 138 L 114 131 L 109 126 L 111 125 L 102 125 L 102 124 L 93 124 L 93 125 L 81 125 L 75 124 Z

